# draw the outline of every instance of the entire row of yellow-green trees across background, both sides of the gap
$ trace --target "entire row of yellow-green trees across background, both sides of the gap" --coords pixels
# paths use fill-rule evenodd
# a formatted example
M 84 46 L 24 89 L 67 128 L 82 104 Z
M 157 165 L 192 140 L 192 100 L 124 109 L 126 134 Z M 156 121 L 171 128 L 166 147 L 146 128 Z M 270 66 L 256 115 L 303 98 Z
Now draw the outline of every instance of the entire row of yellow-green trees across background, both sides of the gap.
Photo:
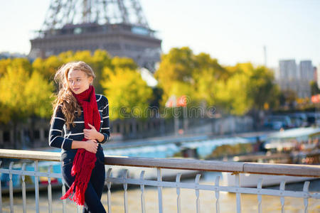
M 151 89 L 142 80 L 134 60 L 112 58 L 105 50 L 83 50 L 37 58 L 32 64 L 26 58 L 0 60 L 0 121 L 9 121 L 16 114 L 50 116 L 51 94 L 57 89 L 55 72 L 65 62 L 75 60 L 87 62 L 94 70 L 95 91 L 105 94 L 110 109 L 116 109 L 110 111 L 110 119 L 143 117 L 146 114 L 142 111 L 150 105 L 164 108 L 171 95 L 188 96 L 188 106 L 217 107 L 223 113 L 237 115 L 278 104 L 279 88 L 274 84 L 272 70 L 250 62 L 223 66 L 206 53 L 172 48 L 161 55 L 154 74 L 159 84 Z M 157 103 L 159 97 L 161 102 Z

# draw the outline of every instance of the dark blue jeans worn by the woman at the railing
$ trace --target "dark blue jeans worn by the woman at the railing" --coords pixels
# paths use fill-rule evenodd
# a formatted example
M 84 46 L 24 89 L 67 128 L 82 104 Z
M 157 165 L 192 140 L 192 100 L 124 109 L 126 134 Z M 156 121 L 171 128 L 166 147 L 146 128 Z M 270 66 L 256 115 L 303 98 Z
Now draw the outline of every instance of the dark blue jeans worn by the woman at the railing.
M 76 150 L 65 151 L 61 155 L 62 175 L 65 184 L 70 187 L 75 181 L 75 176 L 71 176 L 71 168 L 73 167 L 73 159 L 75 158 Z M 90 181 L 85 190 L 85 206 L 83 212 L 85 213 L 103 213 L 106 212 L 101 203 L 101 196 L 103 187 L 105 185 L 105 155 L 102 147 L 98 146 L 97 161 L 95 168 L 93 168 Z

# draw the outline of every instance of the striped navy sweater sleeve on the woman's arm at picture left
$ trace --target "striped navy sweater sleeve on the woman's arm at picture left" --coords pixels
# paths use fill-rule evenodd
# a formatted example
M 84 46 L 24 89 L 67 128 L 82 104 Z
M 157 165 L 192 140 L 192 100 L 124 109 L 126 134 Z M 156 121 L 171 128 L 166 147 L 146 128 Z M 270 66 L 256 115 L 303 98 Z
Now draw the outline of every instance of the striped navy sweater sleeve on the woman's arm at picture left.
M 56 148 L 63 148 L 70 150 L 73 143 L 73 139 L 65 138 L 62 136 L 63 125 L 65 124 L 65 116 L 62 112 L 61 105 L 58 105 L 53 112 L 53 122 L 50 126 L 49 132 L 49 146 Z

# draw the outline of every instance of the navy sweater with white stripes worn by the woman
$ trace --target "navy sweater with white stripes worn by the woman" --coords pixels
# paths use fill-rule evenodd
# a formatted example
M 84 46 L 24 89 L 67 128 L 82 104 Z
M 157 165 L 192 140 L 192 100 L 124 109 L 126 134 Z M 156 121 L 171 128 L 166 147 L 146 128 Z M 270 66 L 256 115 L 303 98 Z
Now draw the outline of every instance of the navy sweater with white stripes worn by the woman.
M 99 110 L 101 120 L 99 131 L 105 136 L 103 141 L 100 143 L 105 143 L 105 141 L 110 140 L 109 103 L 107 97 L 102 94 L 95 94 L 95 97 L 97 99 L 97 108 Z M 75 111 L 75 114 L 77 114 L 77 112 L 78 111 Z M 75 123 L 75 127 L 70 124 L 70 129 L 67 130 L 65 125 L 65 116 L 62 112 L 62 105 L 59 104 L 53 112 L 53 122 L 50 126 L 48 137 L 49 146 L 62 148 L 62 151 L 64 152 L 71 150 L 73 140 L 82 141 L 82 138 L 85 136 L 83 133 L 83 129 L 85 129 L 83 109 L 82 114 L 79 117 L 75 116 L 73 123 Z

